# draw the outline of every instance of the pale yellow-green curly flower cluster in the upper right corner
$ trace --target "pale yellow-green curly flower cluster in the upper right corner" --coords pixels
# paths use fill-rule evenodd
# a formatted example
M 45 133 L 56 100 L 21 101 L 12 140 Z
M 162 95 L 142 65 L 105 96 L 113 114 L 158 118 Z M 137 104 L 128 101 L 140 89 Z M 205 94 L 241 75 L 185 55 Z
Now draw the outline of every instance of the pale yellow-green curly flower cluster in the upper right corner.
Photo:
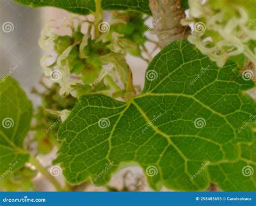
M 219 67 L 232 56 L 244 54 L 256 64 L 255 0 L 188 0 L 183 25 L 193 25 L 188 41 Z

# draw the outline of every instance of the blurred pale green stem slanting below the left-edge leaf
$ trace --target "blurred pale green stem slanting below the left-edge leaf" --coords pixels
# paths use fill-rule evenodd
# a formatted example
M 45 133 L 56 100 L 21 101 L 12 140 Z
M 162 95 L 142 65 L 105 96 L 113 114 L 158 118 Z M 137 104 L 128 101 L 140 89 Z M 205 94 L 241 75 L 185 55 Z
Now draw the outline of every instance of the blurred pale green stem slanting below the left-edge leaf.
M 41 163 L 36 159 L 36 157 L 34 156 L 30 156 L 30 160 L 29 162 L 31 164 L 33 164 L 33 166 L 35 166 L 37 168 L 37 170 L 44 175 L 46 178 L 48 178 L 49 181 L 51 181 L 51 183 L 53 184 L 53 186 L 55 186 L 57 191 L 62 191 L 63 188 L 62 186 L 60 186 L 60 183 L 56 180 L 55 177 L 53 177 L 48 170 L 46 170 Z

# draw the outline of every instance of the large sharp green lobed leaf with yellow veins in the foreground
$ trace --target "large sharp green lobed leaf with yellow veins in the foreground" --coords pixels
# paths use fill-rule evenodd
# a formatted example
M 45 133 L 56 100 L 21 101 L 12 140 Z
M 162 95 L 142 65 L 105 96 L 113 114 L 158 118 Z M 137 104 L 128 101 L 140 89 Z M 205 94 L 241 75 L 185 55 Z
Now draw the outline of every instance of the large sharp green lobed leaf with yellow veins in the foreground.
M 154 189 L 204 190 L 214 182 L 255 190 L 255 174 L 244 168 L 255 170 L 256 106 L 242 93 L 254 84 L 235 68 L 232 61 L 217 67 L 187 40 L 166 46 L 147 69 L 142 94 L 128 102 L 79 99 L 59 129 L 55 162 L 73 184 L 89 177 L 106 184 L 120 163 L 135 162 Z

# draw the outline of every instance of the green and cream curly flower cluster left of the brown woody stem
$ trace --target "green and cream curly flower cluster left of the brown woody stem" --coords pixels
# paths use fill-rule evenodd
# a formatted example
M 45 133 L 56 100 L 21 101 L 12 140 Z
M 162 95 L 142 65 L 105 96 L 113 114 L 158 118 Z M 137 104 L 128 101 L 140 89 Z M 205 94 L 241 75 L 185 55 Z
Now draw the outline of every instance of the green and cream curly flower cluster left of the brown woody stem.
M 39 40 L 42 49 L 51 52 L 41 60 L 45 75 L 60 85 L 60 95 L 104 93 L 110 91 L 111 86 L 118 90 L 115 83 L 118 73 L 125 90 L 120 94 L 133 92 L 125 55 L 142 57 L 147 40 L 142 37 L 147 30 L 145 19 L 136 12 L 115 12 L 110 23 L 100 22 L 97 26 L 97 21 L 89 18 L 73 16 L 57 24 L 46 24 Z M 111 70 L 107 69 L 106 73 L 103 66 L 108 64 Z M 104 83 L 104 78 L 109 84 Z

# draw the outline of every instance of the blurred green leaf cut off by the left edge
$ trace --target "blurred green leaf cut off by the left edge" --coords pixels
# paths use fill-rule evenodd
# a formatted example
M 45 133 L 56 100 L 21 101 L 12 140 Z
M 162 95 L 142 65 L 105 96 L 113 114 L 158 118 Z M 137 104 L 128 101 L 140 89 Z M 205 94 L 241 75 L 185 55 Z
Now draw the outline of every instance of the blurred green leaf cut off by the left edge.
M 0 79 L 0 177 L 28 161 L 23 141 L 31 116 L 32 103 L 17 81 L 8 75 Z

